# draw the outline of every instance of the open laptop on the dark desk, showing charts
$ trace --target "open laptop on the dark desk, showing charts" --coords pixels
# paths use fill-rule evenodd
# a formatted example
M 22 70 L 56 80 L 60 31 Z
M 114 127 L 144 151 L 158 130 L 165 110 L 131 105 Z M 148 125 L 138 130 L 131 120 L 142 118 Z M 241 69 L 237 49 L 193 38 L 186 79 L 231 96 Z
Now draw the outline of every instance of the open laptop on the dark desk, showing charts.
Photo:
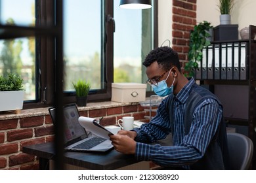
M 87 131 L 79 122 L 79 112 L 75 103 L 64 105 L 64 146 L 65 150 L 75 152 L 108 152 L 114 146 L 110 140 L 102 137 L 88 136 Z M 49 113 L 55 123 L 55 107 L 49 108 Z

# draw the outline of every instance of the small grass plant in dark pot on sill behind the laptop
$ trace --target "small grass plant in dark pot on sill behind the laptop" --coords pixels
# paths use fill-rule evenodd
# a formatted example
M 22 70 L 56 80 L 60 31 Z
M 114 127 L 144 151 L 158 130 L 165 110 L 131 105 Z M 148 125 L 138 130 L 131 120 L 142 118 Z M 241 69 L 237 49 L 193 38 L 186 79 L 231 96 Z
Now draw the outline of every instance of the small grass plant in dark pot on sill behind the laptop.
M 77 80 L 77 82 L 73 82 L 72 84 L 75 88 L 77 106 L 86 106 L 87 96 L 91 88 L 90 82 L 87 80 Z

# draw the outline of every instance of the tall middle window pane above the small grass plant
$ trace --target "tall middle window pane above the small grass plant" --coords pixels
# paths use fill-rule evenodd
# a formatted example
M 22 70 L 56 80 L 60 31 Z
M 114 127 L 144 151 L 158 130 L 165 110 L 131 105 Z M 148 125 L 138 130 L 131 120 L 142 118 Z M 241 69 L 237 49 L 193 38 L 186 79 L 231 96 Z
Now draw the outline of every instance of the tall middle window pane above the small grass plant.
M 103 5 L 104 6 L 104 5 Z M 64 90 L 74 91 L 72 82 L 85 79 L 91 90 L 104 88 L 102 1 L 64 1 Z

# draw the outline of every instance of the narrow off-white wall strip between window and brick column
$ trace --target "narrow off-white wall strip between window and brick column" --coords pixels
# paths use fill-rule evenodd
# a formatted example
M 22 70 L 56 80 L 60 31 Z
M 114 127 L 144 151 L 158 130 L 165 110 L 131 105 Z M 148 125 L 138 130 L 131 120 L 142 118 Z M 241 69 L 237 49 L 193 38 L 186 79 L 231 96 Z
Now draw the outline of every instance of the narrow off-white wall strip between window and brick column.
M 158 46 L 166 40 L 172 40 L 172 24 L 173 24 L 173 1 L 161 0 L 158 1 Z M 169 46 L 165 42 L 163 46 Z M 170 45 L 171 46 L 171 45 Z

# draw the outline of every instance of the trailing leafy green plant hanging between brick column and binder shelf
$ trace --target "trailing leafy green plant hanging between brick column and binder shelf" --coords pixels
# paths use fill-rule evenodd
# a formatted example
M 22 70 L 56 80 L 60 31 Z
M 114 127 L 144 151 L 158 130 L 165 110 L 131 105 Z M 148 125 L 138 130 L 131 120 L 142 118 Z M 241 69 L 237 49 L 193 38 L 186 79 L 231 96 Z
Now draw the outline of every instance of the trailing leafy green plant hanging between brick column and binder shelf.
M 211 44 L 213 26 L 207 21 L 200 22 L 194 26 L 190 33 L 190 42 L 188 50 L 188 62 L 184 66 L 186 76 L 194 76 L 198 63 L 202 61 L 203 48 Z

